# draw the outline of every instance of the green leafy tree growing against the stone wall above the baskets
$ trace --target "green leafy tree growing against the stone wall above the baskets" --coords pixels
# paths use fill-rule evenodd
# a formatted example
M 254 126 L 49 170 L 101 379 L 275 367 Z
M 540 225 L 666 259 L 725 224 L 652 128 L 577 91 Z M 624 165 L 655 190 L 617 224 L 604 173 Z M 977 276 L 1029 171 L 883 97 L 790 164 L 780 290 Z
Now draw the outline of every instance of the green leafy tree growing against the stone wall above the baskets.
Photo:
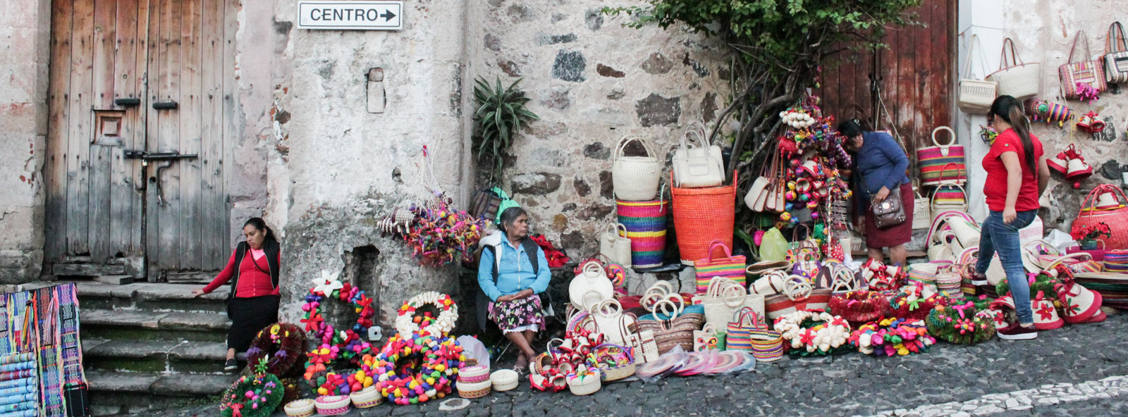
M 729 46 L 733 100 L 711 139 L 729 117 L 740 122 L 730 167 L 764 158 L 779 128 L 778 113 L 817 82 L 820 65 L 838 52 L 881 46 L 885 29 L 914 24 L 920 0 L 645 0 L 645 6 L 603 8 L 627 15 L 626 26 L 685 25 Z

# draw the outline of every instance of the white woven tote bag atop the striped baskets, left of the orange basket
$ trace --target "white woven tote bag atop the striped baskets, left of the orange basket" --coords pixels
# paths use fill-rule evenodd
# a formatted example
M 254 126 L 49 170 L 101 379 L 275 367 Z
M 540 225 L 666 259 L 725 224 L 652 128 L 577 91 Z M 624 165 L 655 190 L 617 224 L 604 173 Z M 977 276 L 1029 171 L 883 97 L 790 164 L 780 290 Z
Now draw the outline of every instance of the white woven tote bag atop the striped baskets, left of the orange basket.
M 631 142 L 637 142 L 646 151 L 645 156 L 627 157 L 623 152 Z M 611 162 L 611 185 L 615 197 L 625 202 L 654 199 L 658 184 L 662 180 L 662 161 L 650 143 L 638 136 L 623 136 L 615 145 L 615 161 Z

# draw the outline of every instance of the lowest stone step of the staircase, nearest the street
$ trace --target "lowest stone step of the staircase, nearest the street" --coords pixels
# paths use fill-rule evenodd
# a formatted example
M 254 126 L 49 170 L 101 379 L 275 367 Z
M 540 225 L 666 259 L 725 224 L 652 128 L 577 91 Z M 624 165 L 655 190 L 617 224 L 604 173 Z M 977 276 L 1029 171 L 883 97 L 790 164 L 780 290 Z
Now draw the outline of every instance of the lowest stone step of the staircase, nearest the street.
M 193 398 L 215 397 L 236 375 L 166 374 L 158 372 L 87 371 L 90 408 L 96 416 L 139 414 L 167 408 Z

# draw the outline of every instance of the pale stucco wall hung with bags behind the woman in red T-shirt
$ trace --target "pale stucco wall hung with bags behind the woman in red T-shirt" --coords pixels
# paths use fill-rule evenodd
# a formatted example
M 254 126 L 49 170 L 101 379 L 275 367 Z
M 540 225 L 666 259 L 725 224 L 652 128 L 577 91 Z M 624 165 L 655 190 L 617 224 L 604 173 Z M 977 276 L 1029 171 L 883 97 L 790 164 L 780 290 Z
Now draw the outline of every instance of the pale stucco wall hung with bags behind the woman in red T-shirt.
M 961 1 L 961 70 L 971 35 L 978 35 L 982 42 L 988 72 L 998 68 L 1003 39 L 1011 37 L 1023 61 L 1041 63 L 1042 94 L 1039 98 L 1057 99 L 1060 86 L 1058 66 L 1068 61 L 1076 32 L 1085 30 L 1092 52 L 1090 57 L 1099 59 L 1104 54 L 1104 39 L 1109 25 L 1114 20 L 1128 20 L 1122 3 L 1113 0 L 1085 0 L 1069 3 L 1069 7 L 1065 7 L 1060 1 L 1043 1 L 1040 5 L 1045 7 L 1039 6 L 1032 9 L 1029 1 L 1020 0 Z M 1109 14 L 1099 16 L 1083 12 L 1083 10 L 1108 10 Z M 1079 60 L 1081 55 L 1084 54 L 1084 48 L 1078 47 L 1078 50 L 1075 60 Z M 975 52 L 972 70 L 981 77 L 980 60 L 982 59 L 979 53 Z M 1074 143 L 1081 150 L 1085 161 L 1094 169 L 1093 176 L 1082 181 L 1081 187 L 1076 189 L 1070 183 L 1065 181 L 1060 174 L 1052 174 L 1048 192 L 1050 205 L 1041 211 L 1042 220 L 1047 223 L 1047 231 L 1050 227 L 1068 231 L 1073 219 L 1077 216 L 1082 201 L 1094 186 L 1122 184 L 1119 175 L 1120 167 L 1128 163 L 1128 147 L 1126 147 L 1128 144 L 1128 133 L 1126 133 L 1128 130 L 1128 95 L 1125 94 L 1126 87 L 1128 86 L 1113 87 L 1103 92 L 1101 99 L 1093 104 L 1067 101 L 1077 117 L 1090 110 L 1101 115 L 1100 118 L 1108 124 L 1108 132 L 1100 137 L 1090 136 L 1084 132 L 1077 132 L 1070 137 L 1069 124 L 1065 128 L 1058 127 L 1056 123 L 1033 124 L 1033 133 L 1042 141 L 1049 157 L 1056 156 L 1059 151 L 1065 150 L 1069 143 Z M 1076 122 L 1075 118 L 1073 123 Z M 986 216 L 986 206 L 982 203 L 985 174 L 980 161 L 987 153 L 988 147 L 979 140 L 978 132 L 979 125 L 985 124 L 986 117 L 982 115 L 969 116 L 961 113 L 957 125 L 961 142 L 970 144 L 968 166 L 973 170 L 968 190 L 971 195 L 972 213 L 980 219 Z

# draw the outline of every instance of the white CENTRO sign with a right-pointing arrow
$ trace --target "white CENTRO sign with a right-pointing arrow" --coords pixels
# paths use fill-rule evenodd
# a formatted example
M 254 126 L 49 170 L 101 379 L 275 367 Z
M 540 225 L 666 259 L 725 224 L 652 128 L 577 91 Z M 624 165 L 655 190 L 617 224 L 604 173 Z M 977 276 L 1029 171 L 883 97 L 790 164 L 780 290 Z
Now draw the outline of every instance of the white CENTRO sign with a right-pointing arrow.
M 399 30 L 403 1 L 299 1 L 298 28 Z

